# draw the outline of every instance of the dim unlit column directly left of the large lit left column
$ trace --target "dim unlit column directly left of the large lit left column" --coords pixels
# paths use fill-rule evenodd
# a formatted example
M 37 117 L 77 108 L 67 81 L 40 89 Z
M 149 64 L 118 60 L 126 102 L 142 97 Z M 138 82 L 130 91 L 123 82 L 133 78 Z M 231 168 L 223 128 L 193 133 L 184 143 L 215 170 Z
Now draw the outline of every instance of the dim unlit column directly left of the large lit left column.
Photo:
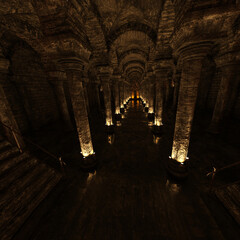
M 66 73 L 62 71 L 49 71 L 48 72 L 50 76 L 50 83 L 53 85 L 56 100 L 59 106 L 59 111 L 62 116 L 62 119 L 64 120 L 66 126 L 68 129 L 72 130 L 73 125 L 70 118 L 66 95 L 64 91 L 64 81 L 66 81 Z

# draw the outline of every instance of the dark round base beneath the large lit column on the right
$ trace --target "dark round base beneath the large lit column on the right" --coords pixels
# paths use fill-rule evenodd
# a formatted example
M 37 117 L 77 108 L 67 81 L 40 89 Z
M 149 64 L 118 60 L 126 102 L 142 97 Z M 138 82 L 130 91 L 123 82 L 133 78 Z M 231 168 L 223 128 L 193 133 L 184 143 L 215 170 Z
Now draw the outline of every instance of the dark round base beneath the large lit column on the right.
M 167 170 L 171 176 L 178 179 L 183 179 L 188 176 L 188 162 L 185 161 L 183 164 L 176 161 L 175 159 L 169 158 L 167 163 Z

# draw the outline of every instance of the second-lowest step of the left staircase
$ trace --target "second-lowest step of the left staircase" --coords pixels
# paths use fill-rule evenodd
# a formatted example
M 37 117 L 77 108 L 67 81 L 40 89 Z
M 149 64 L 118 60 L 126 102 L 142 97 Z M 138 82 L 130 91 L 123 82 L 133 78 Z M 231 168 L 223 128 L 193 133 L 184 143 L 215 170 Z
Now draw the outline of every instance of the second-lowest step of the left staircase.
M 19 194 L 24 191 L 34 179 L 41 175 L 43 171 L 46 171 L 46 167 L 43 164 L 37 164 L 31 171 L 28 171 L 24 176 L 17 178 L 13 181 L 5 191 L 0 192 L 0 209 L 4 209 L 6 205 L 13 201 Z

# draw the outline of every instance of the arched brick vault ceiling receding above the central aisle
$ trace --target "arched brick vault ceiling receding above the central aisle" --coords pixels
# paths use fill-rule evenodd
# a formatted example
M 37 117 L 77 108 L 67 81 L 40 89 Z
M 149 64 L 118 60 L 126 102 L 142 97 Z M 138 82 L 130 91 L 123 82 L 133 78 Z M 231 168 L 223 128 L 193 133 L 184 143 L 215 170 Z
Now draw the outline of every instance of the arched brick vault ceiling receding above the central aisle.
M 111 64 L 138 85 L 157 40 L 164 0 L 92 0 L 110 50 Z

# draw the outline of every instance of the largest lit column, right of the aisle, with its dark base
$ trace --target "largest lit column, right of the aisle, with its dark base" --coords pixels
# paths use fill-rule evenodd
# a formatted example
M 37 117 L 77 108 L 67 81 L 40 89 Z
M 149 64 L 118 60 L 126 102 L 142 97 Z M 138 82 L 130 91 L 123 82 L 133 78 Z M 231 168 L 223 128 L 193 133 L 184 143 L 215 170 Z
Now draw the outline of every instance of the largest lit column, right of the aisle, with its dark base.
M 188 174 L 185 161 L 187 160 L 202 61 L 211 47 L 211 42 L 201 42 L 189 44 L 178 49 L 178 54 L 183 63 L 182 76 L 172 154 L 168 164 L 169 172 L 177 177 L 185 177 Z

